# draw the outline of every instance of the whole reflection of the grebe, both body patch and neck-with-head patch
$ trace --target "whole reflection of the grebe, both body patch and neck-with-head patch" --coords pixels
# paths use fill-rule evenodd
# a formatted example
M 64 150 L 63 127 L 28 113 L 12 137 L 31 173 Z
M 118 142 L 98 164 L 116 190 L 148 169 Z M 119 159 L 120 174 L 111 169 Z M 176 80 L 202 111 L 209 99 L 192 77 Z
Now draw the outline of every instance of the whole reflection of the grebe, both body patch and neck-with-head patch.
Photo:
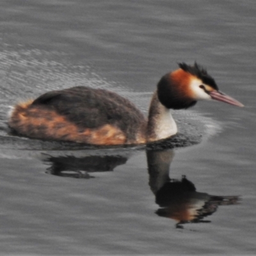
M 124 153 L 124 152 L 122 152 Z M 83 157 L 50 156 L 45 161 L 51 166 L 47 173 L 63 177 L 90 179 L 93 172 L 112 172 L 116 166 L 125 164 L 130 154 L 115 152 L 97 152 Z M 238 204 L 239 196 L 214 196 L 197 192 L 195 185 L 185 175 L 182 179 L 171 179 L 170 164 L 173 150 L 147 150 L 149 186 L 156 196 L 159 209 L 156 214 L 173 219 L 177 228 L 185 223 L 207 223 L 205 217 L 213 214 L 219 205 Z

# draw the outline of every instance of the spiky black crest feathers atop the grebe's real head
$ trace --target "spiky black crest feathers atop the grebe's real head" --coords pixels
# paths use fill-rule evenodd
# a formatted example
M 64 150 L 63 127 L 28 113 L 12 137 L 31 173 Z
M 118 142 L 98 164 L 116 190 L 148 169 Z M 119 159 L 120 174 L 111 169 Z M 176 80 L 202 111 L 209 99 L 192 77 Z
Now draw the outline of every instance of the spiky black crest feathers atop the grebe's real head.
M 182 70 L 190 73 L 191 75 L 201 79 L 204 84 L 208 84 L 215 90 L 218 90 L 217 84 L 215 83 L 214 79 L 207 73 L 207 70 L 205 68 L 202 68 L 196 62 L 193 66 L 187 65 L 186 63 L 179 63 L 179 67 Z

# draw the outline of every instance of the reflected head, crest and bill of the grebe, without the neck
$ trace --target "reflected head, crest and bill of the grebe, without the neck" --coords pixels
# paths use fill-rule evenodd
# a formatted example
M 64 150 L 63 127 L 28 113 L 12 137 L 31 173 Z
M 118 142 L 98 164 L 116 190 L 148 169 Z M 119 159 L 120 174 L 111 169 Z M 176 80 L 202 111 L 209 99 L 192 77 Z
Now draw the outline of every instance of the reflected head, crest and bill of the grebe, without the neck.
M 185 176 L 170 180 L 156 193 L 160 208 L 156 214 L 177 221 L 177 228 L 185 223 L 211 222 L 204 220 L 217 211 L 220 205 L 238 204 L 239 196 L 215 196 L 197 192 L 195 185 Z

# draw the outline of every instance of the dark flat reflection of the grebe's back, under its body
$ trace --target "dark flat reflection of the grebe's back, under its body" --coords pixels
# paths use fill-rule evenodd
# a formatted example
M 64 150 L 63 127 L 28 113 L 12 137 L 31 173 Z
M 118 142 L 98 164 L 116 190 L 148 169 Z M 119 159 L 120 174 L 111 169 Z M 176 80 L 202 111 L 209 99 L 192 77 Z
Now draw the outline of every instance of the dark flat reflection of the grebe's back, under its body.
M 112 172 L 118 165 L 125 164 L 127 156 L 102 155 L 102 156 L 50 156 L 45 154 L 45 163 L 51 166 L 47 173 L 63 177 L 93 178 L 92 172 Z

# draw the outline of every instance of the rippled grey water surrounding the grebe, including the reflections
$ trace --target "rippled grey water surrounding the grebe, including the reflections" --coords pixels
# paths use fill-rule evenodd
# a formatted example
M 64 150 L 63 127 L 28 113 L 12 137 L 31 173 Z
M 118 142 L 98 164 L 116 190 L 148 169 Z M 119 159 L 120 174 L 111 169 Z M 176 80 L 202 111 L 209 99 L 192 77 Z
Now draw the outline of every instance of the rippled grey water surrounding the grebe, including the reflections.
M 255 254 L 254 1 L 0 7 L 2 255 Z M 164 145 L 99 149 L 6 131 L 15 102 L 84 84 L 147 113 L 159 78 L 195 60 L 245 107 L 176 111 L 180 133 Z

